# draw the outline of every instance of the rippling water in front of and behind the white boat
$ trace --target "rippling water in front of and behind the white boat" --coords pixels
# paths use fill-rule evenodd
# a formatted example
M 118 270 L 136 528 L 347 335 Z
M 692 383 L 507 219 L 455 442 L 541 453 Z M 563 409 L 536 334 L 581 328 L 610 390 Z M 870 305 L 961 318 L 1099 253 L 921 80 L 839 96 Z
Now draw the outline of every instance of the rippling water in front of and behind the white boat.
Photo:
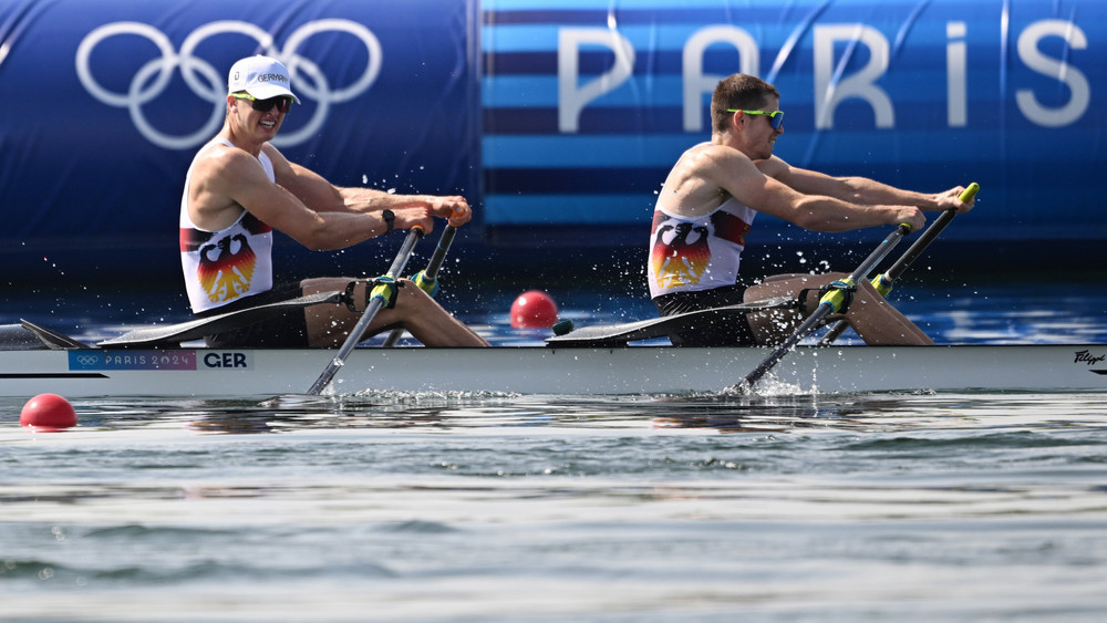
M 1104 300 L 901 307 L 940 342 L 1105 343 Z M 111 334 L 87 309 L 43 323 Z M 0 398 L 0 620 L 1098 621 L 1105 398 L 96 398 L 56 434 Z

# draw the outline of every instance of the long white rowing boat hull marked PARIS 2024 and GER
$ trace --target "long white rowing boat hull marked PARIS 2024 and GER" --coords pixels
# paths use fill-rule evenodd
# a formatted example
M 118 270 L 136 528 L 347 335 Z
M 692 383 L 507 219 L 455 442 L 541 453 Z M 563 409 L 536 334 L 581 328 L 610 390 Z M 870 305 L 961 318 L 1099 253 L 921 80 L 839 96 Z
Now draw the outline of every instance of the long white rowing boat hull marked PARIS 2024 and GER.
M 0 395 L 239 397 L 302 394 L 328 350 L 0 352 Z M 718 392 L 765 349 L 359 349 L 330 392 Z M 783 391 L 1107 391 L 1107 345 L 799 346 L 762 385 Z

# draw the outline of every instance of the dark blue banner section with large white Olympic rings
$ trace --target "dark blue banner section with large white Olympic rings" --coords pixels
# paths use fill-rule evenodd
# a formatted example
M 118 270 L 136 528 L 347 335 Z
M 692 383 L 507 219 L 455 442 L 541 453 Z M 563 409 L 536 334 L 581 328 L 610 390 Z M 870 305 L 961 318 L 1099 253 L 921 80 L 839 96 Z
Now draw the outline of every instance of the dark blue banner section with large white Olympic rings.
M 0 245 L 27 270 L 68 255 L 69 274 L 179 280 L 185 173 L 223 125 L 230 65 L 258 53 L 301 101 L 275 141 L 289 159 L 342 186 L 478 196 L 476 10 L 0 0 Z

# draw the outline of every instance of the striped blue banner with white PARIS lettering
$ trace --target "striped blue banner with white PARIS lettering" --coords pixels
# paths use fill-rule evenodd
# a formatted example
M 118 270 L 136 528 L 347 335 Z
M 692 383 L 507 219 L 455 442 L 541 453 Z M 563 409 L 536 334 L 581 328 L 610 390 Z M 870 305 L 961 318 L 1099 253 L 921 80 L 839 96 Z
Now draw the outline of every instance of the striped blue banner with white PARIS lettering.
M 776 155 L 793 165 L 927 191 L 979 181 L 981 211 L 949 237 L 1107 237 L 1107 2 L 493 0 L 483 14 L 489 224 L 643 238 L 669 168 L 710 139 L 715 83 L 741 71 L 780 91 Z

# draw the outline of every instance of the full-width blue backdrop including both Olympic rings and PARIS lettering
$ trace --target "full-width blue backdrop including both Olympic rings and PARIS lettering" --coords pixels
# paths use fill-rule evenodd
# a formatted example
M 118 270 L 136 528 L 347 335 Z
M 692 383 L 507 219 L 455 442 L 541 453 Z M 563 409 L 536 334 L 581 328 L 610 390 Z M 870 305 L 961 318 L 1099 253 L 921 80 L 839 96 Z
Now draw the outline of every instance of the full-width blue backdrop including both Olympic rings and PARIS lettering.
M 660 185 L 737 71 L 779 89 L 794 165 L 979 181 L 943 238 L 1103 246 L 1105 49 L 1101 0 L 0 0 L 0 257 L 12 279 L 63 253 L 71 274 L 178 278 L 185 172 L 255 53 L 292 72 L 291 160 L 465 195 L 477 256 L 644 258 Z M 751 235 L 784 239 L 818 240 L 769 218 Z

